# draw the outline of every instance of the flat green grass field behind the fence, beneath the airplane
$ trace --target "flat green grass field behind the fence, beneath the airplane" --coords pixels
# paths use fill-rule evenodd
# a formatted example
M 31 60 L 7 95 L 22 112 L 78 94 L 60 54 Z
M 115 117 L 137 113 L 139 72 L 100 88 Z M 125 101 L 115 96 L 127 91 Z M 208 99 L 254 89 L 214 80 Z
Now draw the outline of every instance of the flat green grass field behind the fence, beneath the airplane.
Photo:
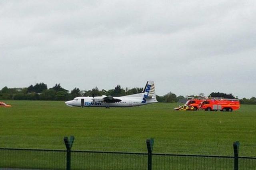
M 176 103 L 131 108 L 70 108 L 61 101 L 5 101 L 0 108 L 0 147 L 65 149 L 63 137 L 75 136 L 73 150 L 256 156 L 256 106 L 232 113 L 173 111 Z

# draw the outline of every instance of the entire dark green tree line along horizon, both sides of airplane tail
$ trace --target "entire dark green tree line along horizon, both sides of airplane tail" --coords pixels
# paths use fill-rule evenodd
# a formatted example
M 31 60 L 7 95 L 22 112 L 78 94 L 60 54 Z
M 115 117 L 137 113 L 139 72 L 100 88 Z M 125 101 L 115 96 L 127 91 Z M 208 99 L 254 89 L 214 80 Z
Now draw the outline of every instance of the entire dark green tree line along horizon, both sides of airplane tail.
M 55 84 L 54 87 L 48 88 L 45 83 L 36 83 L 36 85 L 30 85 L 29 87 L 24 88 L 8 88 L 4 87 L 0 90 L 0 100 L 56 100 L 56 101 L 67 101 L 72 100 L 78 96 L 102 96 L 102 95 L 111 95 L 111 96 L 124 96 L 124 95 L 132 95 L 137 93 L 142 93 L 142 87 L 134 87 L 134 88 L 125 88 L 123 89 L 120 85 L 116 85 L 114 89 L 109 90 L 99 90 L 98 87 L 92 88 L 91 90 L 80 90 L 75 87 L 72 91 L 68 91 L 60 86 L 60 83 Z M 199 95 L 190 95 L 187 96 L 189 98 L 198 98 L 200 96 L 204 96 L 203 93 Z M 237 99 L 234 97 L 232 93 L 220 93 L 220 92 L 212 92 L 208 97 L 223 97 L 228 99 Z M 166 102 L 166 103 L 177 103 L 180 99 L 186 99 L 186 97 L 169 92 L 166 95 L 158 96 L 156 95 L 156 99 L 158 102 Z M 252 97 L 250 99 L 240 99 L 241 104 L 254 104 L 256 105 L 256 98 Z

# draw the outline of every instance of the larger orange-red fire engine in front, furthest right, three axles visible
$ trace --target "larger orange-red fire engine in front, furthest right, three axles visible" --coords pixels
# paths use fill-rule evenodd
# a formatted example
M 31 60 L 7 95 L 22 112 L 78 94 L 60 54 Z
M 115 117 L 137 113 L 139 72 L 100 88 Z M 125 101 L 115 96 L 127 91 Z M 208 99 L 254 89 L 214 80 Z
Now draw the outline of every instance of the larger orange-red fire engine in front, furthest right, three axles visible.
M 238 99 L 206 99 L 202 101 L 200 109 L 205 111 L 235 111 L 240 108 Z

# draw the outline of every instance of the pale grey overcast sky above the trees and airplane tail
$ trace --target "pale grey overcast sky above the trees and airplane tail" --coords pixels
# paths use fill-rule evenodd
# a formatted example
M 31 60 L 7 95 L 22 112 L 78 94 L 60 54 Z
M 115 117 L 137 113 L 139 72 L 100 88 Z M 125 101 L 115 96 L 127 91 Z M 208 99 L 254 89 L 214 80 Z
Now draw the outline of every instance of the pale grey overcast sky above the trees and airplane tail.
M 255 0 L 1 0 L 0 89 L 256 96 Z

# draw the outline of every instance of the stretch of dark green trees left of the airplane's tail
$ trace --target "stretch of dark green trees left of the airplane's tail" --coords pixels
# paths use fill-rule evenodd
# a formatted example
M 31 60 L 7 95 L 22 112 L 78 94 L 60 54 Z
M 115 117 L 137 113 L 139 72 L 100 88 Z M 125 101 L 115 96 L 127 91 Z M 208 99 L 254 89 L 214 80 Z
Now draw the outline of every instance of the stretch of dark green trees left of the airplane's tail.
M 117 85 L 114 89 L 110 90 L 99 90 L 98 87 L 92 88 L 91 90 L 80 90 L 75 87 L 72 91 L 68 91 L 56 84 L 54 87 L 49 88 L 45 83 L 36 83 L 36 85 L 30 85 L 25 88 L 8 88 L 4 87 L 0 90 L 0 100 L 57 100 L 66 101 L 72 100 L 78 96 L 124 96 L 141 93 L 142 87 L 136 87 L 132 89 L 122 89 L 120 85 Z

